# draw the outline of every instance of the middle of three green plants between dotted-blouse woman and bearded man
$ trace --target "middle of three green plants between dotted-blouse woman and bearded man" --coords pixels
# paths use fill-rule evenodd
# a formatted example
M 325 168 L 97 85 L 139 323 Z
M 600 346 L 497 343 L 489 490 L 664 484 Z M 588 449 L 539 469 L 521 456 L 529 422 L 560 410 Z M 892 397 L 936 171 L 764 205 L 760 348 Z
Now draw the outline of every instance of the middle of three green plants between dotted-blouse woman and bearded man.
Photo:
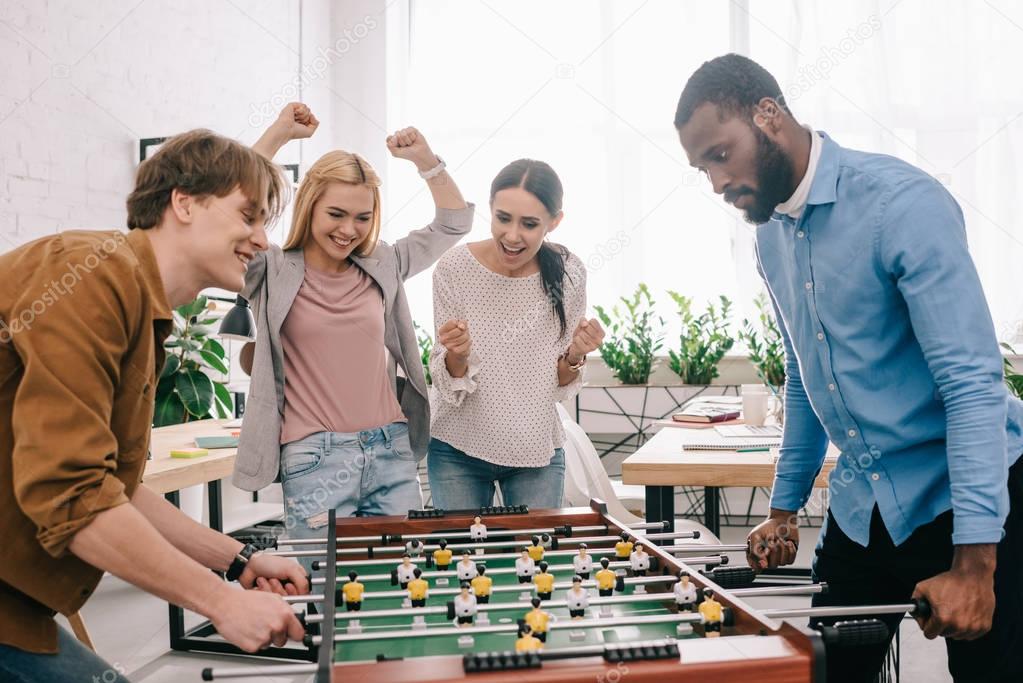
M 669 350 L 669 365 L 685 384 L 710 384 L 717 377 L 717 364 L 736 344 L 728 332 L 728 315 L 731 302 L 719 297 L 720 308 L 708 304 L 700 315 L 693 312 L 693 299 L 677 291 L 668 295 L 678 307 L 682 331 L 678 351 Z

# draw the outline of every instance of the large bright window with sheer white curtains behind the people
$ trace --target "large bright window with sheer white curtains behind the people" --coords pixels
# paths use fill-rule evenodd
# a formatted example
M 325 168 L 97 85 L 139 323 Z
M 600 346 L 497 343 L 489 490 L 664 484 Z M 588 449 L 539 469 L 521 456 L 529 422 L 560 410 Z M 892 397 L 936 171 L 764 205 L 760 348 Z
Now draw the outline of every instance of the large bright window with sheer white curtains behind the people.
M 551 164 L 566 188 L 552 238 L 587 263 L 591 306 L 647 282 L 669 323 L 666 289 L 726 294 L 742 317 L 760 291 L 752 227 L 690 169 L 672 116 L 696 67 L 748 50 L 801 121 L 948 181 L 1009 338 L 1023 317 L 1013 286 L 1023 240 L 1013 211 L 1023 187 L 1023 89 L 1013 74 L 1023 14 L 1011 20 L 1008 5 L 413 0 L 393 127 L 419 127 L 445 156 L 478 204 L 473 240 L 489 236 L 489 184 L 504 164 Z M 407 170 L 388 183 L 393 239 L 425 224 L 432 204 Z M 409 295 L 429 322 L 429 277 Z

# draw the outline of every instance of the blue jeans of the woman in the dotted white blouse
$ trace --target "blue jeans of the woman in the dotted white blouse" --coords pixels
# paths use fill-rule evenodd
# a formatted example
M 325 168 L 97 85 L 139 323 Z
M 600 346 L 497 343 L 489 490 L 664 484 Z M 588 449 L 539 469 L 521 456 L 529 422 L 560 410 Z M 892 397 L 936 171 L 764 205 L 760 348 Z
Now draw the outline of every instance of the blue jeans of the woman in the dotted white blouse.
M 505 505 L 533 509 L 561 507 L 565 494 L 565 449 L 555 448 L 543 467 L 505 467 L 474 458 L 438 439 L 430 440 L 427 457 L 434 507 L 472 510 L 492 505 L 494 484 Z

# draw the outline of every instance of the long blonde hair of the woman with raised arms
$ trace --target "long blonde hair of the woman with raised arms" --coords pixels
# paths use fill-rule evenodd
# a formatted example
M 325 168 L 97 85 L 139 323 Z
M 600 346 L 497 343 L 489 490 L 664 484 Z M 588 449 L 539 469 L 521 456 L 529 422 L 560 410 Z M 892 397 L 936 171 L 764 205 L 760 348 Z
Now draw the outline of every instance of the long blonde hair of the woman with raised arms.
M 376 240 L 381 236 L 381 179 L 366 160 L 355 152 L 342 149 L 323 154 L 306 172 L 295 196 L 292 230 L 283 248 L 286 251 L 306 245 L 313 222 L 313 207 L 330 183 L 363 185 L 372 191 L 373 217 L 369 221 L 369 232 L 354 252 L 360 257 L 369 256 L 376 248 Z

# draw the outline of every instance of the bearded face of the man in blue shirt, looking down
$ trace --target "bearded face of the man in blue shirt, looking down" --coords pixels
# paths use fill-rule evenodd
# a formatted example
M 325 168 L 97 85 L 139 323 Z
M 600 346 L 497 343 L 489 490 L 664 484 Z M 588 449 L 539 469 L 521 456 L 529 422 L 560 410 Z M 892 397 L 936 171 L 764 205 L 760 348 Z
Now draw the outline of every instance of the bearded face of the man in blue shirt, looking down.
M 768 133 L 711 102 L 701 104 L 678 130 L 690 164 L 707 175 L 714 192 L 749 223 L 770 219 L 793 190 L 793 163 Z

